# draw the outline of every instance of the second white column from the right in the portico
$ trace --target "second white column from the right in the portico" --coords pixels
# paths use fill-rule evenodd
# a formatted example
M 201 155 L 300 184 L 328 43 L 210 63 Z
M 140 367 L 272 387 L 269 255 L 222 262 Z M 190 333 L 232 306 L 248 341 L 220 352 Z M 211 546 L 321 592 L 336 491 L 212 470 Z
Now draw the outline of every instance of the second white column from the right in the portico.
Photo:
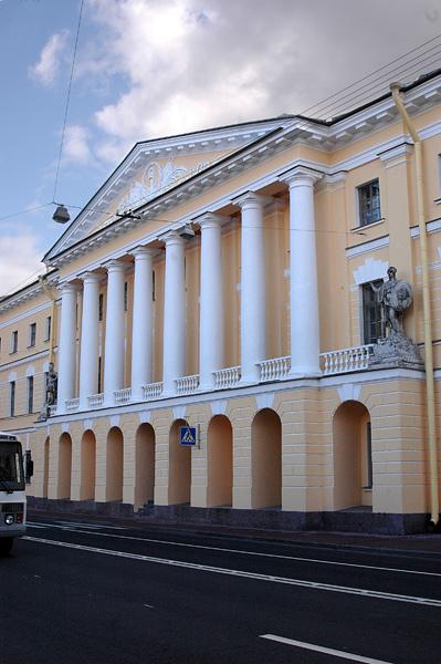
M 258 383 L 258 362 L 266 359 L 265 255 L 263 208 L 272 198 L 252 191 L 233 203 L 241 227 L 241 383 Z

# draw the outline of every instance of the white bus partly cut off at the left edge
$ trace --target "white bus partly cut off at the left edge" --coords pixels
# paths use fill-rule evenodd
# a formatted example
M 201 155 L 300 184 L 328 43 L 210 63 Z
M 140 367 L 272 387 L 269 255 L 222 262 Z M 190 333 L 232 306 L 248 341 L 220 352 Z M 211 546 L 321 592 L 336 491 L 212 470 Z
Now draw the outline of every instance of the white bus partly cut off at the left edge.
M 27 460 L 27 475 L 32 476 Z M 21 443 L 0 432 L 0 556 L 8 556 L 13 539 L 27 530 L 27 496 Z

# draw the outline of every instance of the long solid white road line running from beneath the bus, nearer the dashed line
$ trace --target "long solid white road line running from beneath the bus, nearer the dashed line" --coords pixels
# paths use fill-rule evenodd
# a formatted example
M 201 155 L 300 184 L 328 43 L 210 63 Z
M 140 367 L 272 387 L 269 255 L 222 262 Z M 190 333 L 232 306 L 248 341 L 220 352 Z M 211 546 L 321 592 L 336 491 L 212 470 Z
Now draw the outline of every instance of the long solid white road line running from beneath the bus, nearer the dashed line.
M 130 560 L 139 560 L 141 562 L 156 562 L 159 564 L 168 564 L 171 567 L 180 567 L 188 570 L 198 570 L 202 572 L 212 572 L 216 574 L 225 574 L 229 577 L 241 577 L 243 579 L 252 579 L 254 581 L 272 581 L 273 583 L 283 583 L 285 585 L 297 585 L 301 588 L 309 588 L 313 590 L 326 590 L 330 592 L 340 592 L 345 594 L 354 594 L 359 596 L 368 596 L 377 600 L 392 600 L 396 602 L 407 602 L 410 604 L 420 604 L 427 606 L 441 608 L 441 600 L 431 598 L 419 598 L 413 595 L 400 595 L 390 592 L 381 592 L 376 590 L 361 590 L 359 588 L 350 588 L 346 585 L 334 585 L 332 583 L 318 583 L 316 581 L 304 581 L 303 579 L 290 579 L 285 577 L 274 577 L 271 574 L 259 574 L 256 572 L 245 572 L 242 570 L 231 570 L 228 568 L 218 568 L 208 564 L 198 564 L 195 562 L 183 562 L 181 560 L 170 560 L 167 558 L 156 558 L 154 556 L 141 556 L 140 553 L 128 553 L 126 551 L 113 551 L 112 549 L 98 549 L 97 547 L 87 547 L 85 544 L 74 544 L 71 542 L 60 542 L 51 539 L 39 537 L 24 536 L 22 539 L 50 544 L 53 547 L 63 547 L 66 549 L 76 549 L 78 551 L 88 551 L 90 553 L 102 553 L 104 556 L 115 556 L 116 558 L 128 558 Z

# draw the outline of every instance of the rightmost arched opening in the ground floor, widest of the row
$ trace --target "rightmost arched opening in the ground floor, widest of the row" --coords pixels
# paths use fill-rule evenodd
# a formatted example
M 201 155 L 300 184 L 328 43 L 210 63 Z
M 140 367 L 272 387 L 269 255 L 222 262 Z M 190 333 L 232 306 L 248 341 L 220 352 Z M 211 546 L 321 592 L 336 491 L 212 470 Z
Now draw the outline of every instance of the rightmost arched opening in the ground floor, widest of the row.
M 359 402 L 334 415 L 334 509 L 371 505 L 372 458 L 369 412 Z

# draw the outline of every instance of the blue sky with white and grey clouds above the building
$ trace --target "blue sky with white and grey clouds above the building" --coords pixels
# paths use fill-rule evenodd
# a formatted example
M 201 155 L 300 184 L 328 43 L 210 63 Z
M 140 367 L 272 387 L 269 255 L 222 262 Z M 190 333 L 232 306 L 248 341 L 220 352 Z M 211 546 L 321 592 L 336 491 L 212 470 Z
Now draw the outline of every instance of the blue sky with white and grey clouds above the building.
M 441 35 L 439 0 L 84 0 L 55 188 L 80 9 L 0 0 L 3 294 L 45 271 L 49 204 L 74 218 L 137 141 L 303 113 Z

